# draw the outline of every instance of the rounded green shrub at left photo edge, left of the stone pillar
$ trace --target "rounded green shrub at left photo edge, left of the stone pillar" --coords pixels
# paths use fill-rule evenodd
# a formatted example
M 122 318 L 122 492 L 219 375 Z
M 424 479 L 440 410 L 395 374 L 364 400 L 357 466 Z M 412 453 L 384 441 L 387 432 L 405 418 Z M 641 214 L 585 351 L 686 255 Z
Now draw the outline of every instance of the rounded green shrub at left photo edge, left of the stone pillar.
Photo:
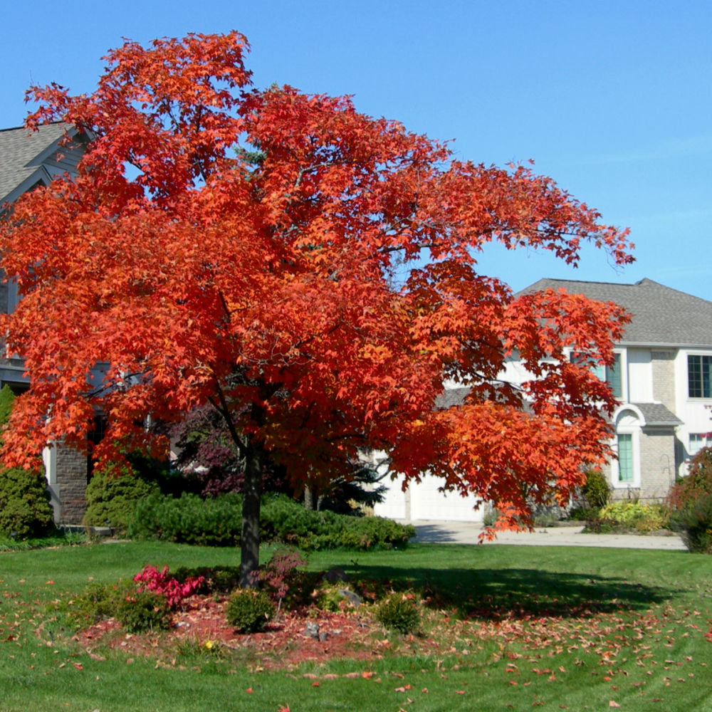
M 0 532 L 27 539 L 54 527 L 47 482 L 40 473 L 11 468 L 0 471 Z

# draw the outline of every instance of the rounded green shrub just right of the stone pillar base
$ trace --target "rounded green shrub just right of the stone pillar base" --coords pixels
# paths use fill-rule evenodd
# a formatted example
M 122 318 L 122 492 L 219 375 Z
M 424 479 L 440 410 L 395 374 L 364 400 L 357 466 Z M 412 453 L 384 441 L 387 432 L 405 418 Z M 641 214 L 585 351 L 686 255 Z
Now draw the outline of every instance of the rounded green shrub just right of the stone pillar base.
M 110 526 L 125 534 L 137 504 L 158 491 L 156 483 L 137 477 L 129 468 L 119 472 L 96 471 L 87 489 L 87 525 Z

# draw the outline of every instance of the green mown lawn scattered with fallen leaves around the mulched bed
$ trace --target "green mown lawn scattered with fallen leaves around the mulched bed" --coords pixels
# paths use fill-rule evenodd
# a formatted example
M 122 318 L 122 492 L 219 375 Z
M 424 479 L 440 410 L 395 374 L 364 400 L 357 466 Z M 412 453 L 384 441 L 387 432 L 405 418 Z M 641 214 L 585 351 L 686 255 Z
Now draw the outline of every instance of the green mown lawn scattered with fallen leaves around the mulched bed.
M 439 648 L 409 654 L 407 640 L 392 639 L 381 659 L 296 671 L 249 671 L 194 651 L 169 669 L 111 651 L 92 657 L 48 612 L 89 580 L 127 578 L 147 563 L 235 565 L 238 556 L 165 543 L 1 553 L 0 711 L 712 710 L 712 557 L 689 553 L 460 545 L 315 553 L 315 570 L 407 580 L 434 598 L 424 636 Z

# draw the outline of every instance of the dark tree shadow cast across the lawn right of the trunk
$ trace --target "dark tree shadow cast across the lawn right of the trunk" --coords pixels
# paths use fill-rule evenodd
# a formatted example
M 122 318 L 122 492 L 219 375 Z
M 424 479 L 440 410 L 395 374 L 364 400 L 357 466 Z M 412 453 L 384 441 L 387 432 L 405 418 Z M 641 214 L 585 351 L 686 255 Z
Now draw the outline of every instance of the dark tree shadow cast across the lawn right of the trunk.
M 478 619 L 579 618 L 646 610 L 676 593 L 621 577 L 528 568 L 403 570 L 352 562 L 344 569 L 355 582 L 387 582 L 394 591 L 417 592 L 430 607 L 455 608 L 463 617 Z

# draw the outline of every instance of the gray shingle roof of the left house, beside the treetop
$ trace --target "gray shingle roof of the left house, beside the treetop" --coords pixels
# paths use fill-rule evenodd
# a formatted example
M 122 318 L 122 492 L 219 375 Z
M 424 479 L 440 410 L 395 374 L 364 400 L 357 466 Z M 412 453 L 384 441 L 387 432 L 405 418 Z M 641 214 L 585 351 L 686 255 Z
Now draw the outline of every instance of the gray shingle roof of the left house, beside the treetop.
M 42 162 L 64 135 L 66 124 L 45 124 L 36 132 L 25 127 L 0 130 L 0 205 L 39 180 L 48 179 Z

